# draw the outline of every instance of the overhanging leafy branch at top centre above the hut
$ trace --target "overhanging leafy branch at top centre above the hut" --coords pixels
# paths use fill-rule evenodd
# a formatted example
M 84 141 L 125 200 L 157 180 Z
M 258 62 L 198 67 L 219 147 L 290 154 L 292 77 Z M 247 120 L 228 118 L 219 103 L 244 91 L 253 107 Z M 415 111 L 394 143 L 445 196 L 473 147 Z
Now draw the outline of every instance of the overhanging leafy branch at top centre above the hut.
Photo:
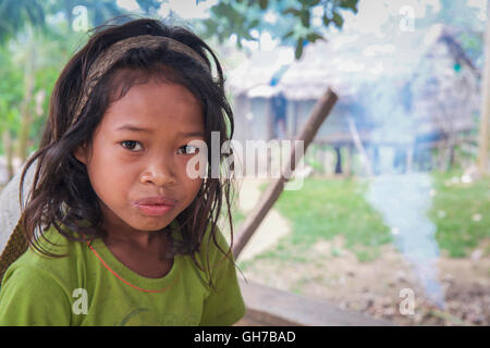
M 267 30 L 282 44 L 295 46 L 296 59 L 303 54 L 308 42 L 324 39 L 323 29 L 333 24 L 343 25 L 342 11 L 357 13 L 358 0 L 221 0 L 211 8 L 211 17 L 204 22 L 205 36 L 217 36 L 220 42 L 236 35 L 236 45 L 242 48 L 242 40 L 257 40 L 250 32 Z M 314 9 L 322 11 L 322 27 L 313 21 Z M 266 14 L 275 15 L 271 23 Z

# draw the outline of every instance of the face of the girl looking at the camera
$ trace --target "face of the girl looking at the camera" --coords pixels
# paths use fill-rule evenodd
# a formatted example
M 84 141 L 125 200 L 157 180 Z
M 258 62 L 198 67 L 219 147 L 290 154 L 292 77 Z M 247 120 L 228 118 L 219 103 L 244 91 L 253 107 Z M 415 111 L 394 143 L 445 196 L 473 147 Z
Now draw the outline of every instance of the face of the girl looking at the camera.
M 186 145 L 204 141 L 204 133 L 201 105 L 183 86 L 150 80 L 113 102 L 91 148 L 75 151 L 100 199 L 103 226 L 147 232 L 169 225 L 203 184 L 186 174 L 187 162 L 198 156 Z

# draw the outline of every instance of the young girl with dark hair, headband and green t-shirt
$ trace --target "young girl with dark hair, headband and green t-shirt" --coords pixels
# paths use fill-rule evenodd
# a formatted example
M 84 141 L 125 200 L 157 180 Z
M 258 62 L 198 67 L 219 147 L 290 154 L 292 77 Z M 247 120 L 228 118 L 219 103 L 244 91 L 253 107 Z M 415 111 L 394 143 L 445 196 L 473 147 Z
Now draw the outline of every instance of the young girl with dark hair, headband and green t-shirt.
M 0 324 L 241 319 L 233 258 L 217 226 L 224 196 L 233 227 L 230 181 L 186 171 L 199 156 L 188 144 L 211 149 L 211 132 L 221 148 L 233 114 L 201 39 L 146 18 L 97 30 L 61 73 L 22 173 L 21 187 L 36 161 L 20 225 L 30 247 L 2 278 Z

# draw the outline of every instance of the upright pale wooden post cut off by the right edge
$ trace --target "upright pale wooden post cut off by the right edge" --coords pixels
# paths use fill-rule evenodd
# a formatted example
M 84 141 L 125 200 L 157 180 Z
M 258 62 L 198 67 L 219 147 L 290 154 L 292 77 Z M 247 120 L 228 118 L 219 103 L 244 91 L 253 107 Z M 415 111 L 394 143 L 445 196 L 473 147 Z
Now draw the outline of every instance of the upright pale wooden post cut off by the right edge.
M 480 136 L 478 144 L 478 169 L 481 175 L 488 173 L 488 147 L 490 136 L 490 0 L 487 1 L 487 33 L 485 39 L 485 71 L 481 86 Z

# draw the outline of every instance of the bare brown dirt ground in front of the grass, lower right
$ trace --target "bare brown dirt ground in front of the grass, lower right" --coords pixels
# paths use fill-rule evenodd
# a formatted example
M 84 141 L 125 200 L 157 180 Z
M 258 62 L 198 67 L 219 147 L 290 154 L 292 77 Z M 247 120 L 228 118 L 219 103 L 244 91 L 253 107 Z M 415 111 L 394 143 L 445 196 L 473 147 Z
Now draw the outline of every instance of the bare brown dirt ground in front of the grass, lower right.
M 306 262 L 256 259 L 244 275 L 397 325 L 490 325 L 490 256 L 440 257 L 437 268 L 442 308 L 427 299 L 413 268 L 392 245 L 382 246 L 375 261 L 358 262 L 342 238 L 322 240 L 308 251 Z

